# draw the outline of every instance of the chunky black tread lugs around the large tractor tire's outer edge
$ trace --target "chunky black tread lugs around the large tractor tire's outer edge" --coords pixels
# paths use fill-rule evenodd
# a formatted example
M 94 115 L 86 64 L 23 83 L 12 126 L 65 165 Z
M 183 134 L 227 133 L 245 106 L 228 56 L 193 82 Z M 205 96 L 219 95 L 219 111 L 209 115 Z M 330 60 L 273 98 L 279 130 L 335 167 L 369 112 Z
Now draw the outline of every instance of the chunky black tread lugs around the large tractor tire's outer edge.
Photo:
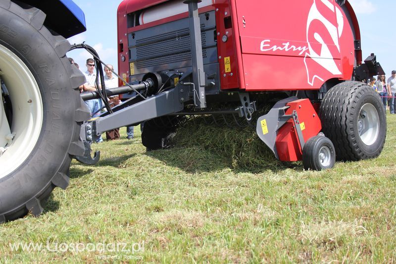
M 42 34 L 51 44 L 68 73 L 69 82 L 71 85 L 70 89 L 73 90 L 72 100 L 75 101 L 74 104 L 76 109 L 74 117 L 76 121 L 74 124 L 71 124 L 73 125 L 73 135 L 69 144 L 69 150 L 67 151 L 64 160 L 60 163 L 57 173 L 55 173 L 53 177 L 50 178 L 48 184 L 46 186 L 43 186 L 42 190 L 39 193 L 37 193 L 25 204 L 17 206 L 12 211 L 0 212 L 1 223 L 7 220 L 13 220 L 17 217 L 21 217 L 29 212 L 31 212 L 35 216 L 38 216 L 44 211 L 42 207 L 42 202 L 49 197 L 49 194 L 55 187 L 66 189 L 69 184 L 69 169 L 71 159 L 74 158 L 74 155 L 82 155 L 84 153 L 84 147 L 82 147 L 84 146 L 84 143 L 80 139 L 80 126 L 83 121 L 88 120 L 89 111 L 81 100 L 78 89 L 75 89 L 76 87 L 80 86 L 85 82 L 84 75 L 79 72 L 77 68 L 74 69 L 75 67 L 72 67 L 68 58 L 66 57 L 66 53 L 69 51 L 70 48 L 69 42 L 61 36 L 53 35 L 44 26 L 46 14 L 35 7 L 24 9 L 18 4 L 9 0 L 1 1 L 0 8 L 7 9 L 27 21 L 29 24 L 31 24 L 31 26 L 37 29 L 38 33 Z

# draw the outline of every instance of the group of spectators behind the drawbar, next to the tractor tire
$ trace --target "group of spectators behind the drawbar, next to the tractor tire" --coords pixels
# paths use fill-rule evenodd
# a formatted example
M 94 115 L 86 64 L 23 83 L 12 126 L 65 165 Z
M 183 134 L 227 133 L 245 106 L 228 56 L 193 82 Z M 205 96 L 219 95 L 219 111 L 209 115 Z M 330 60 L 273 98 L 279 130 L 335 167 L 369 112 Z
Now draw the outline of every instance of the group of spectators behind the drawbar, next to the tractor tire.
M 74 62 L 72 58 L 69 58 L 70 64 L 74 64 L 78 69 L 80 68 L 77 63 Z M 88 93 L 90 91 L 97 91 L 97 85 L 96 85 L 96 78 L 97 78 L 97 73 L 95 70 L 95 61 L 92 58 L 87 59 L 87 70 L 83 71 L 83 74 L 85 76 L 86 82 L 79 87 L 80 93 Z M 104 75 L 104 87 L 106 89 L 109 88 L 115 88 L 118 87 L 118 78 L 116 78 L 113 75 L 114 67 L 111 64 L 107 64 L 103 67 L 103 70 L 105 72 Z M 99 78 L 99 86 L 100 86 L 100 78 Z M 118 96 L 109 96 L 107 97 L 108 104 L 110 107 L 114 107 L 120 104 L 120 99 Z M 101 99 L 92 99 L 92 100 L 87 100 L 85 101 L 85 105 L 89 109 L 91 113 L 91 117 L 98 117 L 101 112 L 103 111 L 103 105 Z M 134 127 L 133 126 L 127 126 L 127 139 L 133 139 L 134 138 Z M 106 131 L 106 140 L 116 140 L 120 139 L 120 132 L 119 128 Z M 101 143 L 103 142 L 103 138 L 100 135 L 99 137 L 93 137 L 93 142 L 96 143 Z

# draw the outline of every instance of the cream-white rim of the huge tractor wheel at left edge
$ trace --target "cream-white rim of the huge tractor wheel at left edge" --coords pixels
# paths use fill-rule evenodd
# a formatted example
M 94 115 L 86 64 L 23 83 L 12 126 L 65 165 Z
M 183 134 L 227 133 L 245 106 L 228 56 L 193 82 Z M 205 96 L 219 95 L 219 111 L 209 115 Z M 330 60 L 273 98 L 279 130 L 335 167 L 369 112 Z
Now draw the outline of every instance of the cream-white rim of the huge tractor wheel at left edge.
M 43 124 L 43 102 L 39 86 L 29 68 L 17 55 L 2 45 L 0 70 L 0 77 L 7 87 L 12 103 L 10 131 L 15 133 L 11 145 L 0 146 L 6 148 L 0 156 L 1 179 L 17 169 L 32 153 Z M 6 118 L 0 118 L 0 122 L 1 126 L 9 127 Z

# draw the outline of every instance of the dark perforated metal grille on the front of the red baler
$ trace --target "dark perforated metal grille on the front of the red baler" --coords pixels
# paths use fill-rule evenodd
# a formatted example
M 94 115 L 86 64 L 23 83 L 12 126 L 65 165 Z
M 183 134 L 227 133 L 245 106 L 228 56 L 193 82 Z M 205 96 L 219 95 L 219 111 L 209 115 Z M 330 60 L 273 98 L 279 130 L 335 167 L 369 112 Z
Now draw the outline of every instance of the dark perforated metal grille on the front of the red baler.
M 200 25 L 202 55 L 206 58 L 205 25 Z M 189 28 L 136 40 L 137 68 L 191 61 Z

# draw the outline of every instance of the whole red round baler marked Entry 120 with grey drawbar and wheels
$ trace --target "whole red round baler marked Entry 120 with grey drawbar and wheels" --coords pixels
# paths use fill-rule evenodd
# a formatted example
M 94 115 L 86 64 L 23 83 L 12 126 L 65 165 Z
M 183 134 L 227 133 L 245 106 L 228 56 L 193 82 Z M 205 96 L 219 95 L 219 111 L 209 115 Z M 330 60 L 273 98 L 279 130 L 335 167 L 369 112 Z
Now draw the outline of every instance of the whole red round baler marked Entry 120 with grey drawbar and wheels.
M 231 114 L 255 122 L 277 158 L 305 168 L 383 148 L 384 110 L 361 82 L 383 70 L 374 54 L 362 63 L 346 0 L 124 0 L 117 21 L 129 95 L 95 121 L 98 133 L 145 121 L 142 142 L 158 149 L 178 116 Z M 272 109 L 254 118 L 263 98 Z

